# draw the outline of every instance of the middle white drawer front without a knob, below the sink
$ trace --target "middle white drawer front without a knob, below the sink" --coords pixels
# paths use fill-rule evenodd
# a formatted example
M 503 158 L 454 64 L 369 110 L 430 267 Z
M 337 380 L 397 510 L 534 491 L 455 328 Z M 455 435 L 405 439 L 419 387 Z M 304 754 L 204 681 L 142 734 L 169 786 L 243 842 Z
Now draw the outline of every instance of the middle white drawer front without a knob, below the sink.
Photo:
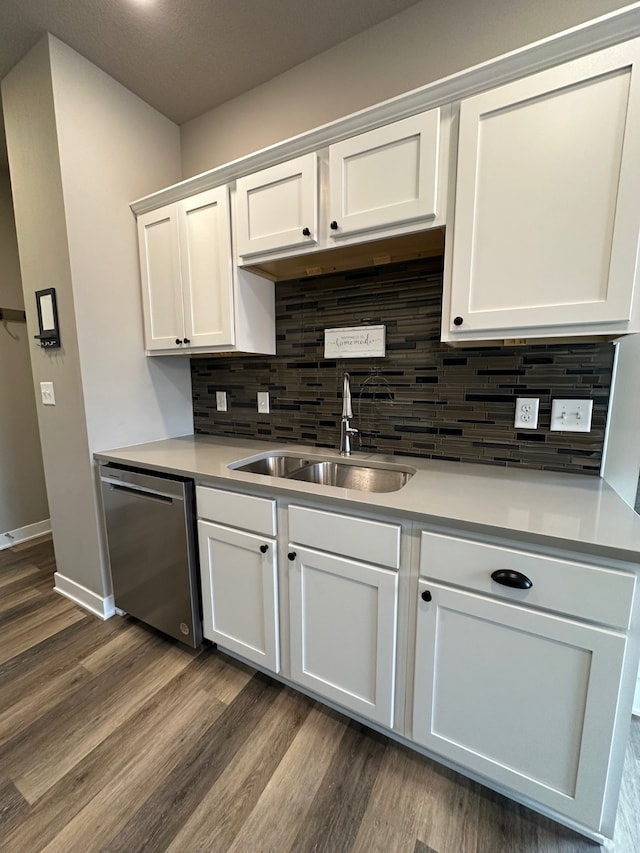
M 391 569 L 400 565 L 400 527 L 397 524 L 290 506 L 289 539 L 298 545 Z

